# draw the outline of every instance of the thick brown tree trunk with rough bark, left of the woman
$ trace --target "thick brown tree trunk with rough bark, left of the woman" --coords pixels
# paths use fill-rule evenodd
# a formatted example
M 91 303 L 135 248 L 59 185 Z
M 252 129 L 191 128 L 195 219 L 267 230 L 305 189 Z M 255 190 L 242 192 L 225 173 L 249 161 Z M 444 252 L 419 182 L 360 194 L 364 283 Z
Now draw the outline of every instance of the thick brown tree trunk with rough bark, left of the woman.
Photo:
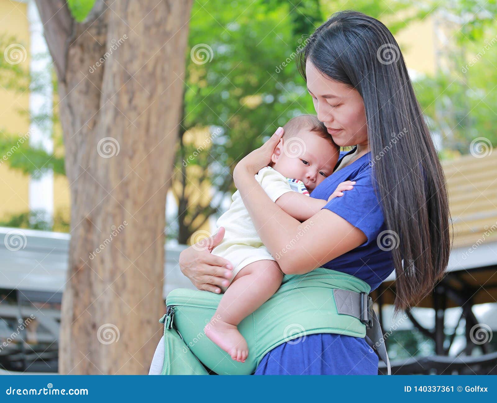
M 61 374 L 146 374 L 162 333 L 166 190 L 192 0 L 36 0 L 71 188 Z M 97 63 L 98 62 L 98 63 Z

